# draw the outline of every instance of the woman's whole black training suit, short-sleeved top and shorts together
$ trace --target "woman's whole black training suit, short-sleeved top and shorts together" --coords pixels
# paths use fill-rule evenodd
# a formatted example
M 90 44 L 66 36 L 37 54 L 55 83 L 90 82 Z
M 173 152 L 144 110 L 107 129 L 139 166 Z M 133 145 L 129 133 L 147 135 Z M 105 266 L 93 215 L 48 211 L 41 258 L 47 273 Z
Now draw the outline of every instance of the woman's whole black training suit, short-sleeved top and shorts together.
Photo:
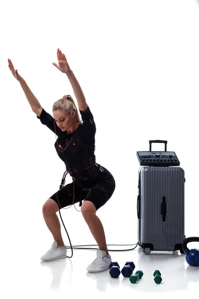
M 37 116 L 43 125 L 46 125 L 58 136 L 55 149 L 64 161 L 66 170 L 74 179 L 74 190 L 72 182 L 54 193 L 50 198 L 57 202 L 61 209 L 61 207 L 72 204 L 73 193 L 75 193 L 74 203 L 89 200 L 94 203 L 98 210 L 114 192 L 115 180 L 105 167 L 96 162 L 96 125 L 89 106 L 86 111 L 79 111 L 83 125 L 79 125 L 71 134 L 68 134 L 67 131 L 63 132 L 53 117 L 44 109 L 42 109 L 40 117 Z M 65 149 L 67 145 L 68 147 Z

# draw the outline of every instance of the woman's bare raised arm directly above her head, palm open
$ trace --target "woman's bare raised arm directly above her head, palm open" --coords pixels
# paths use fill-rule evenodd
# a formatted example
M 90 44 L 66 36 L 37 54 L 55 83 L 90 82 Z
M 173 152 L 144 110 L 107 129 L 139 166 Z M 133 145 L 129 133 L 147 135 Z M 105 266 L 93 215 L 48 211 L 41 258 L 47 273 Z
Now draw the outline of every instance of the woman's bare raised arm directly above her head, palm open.
M 85 96 L 83 94 L 82 88 L 81 88 L 78 80 L 76 79 L 73 71 L 70 69 L 64 53 L 62 54 L 62 52 L 59 49 L 57 50 L 57 59 L 58 59 L 59 65 L 57 65 L 54 62 L 53 62 L 53 65 L 56 66 L 62 73 L 65 73 L 67 75 L 67 77 L 72 85 L 75 97 L 77 99 L 79 109 L 81 111 L 87 110 L 88 105 L 87 105 Z

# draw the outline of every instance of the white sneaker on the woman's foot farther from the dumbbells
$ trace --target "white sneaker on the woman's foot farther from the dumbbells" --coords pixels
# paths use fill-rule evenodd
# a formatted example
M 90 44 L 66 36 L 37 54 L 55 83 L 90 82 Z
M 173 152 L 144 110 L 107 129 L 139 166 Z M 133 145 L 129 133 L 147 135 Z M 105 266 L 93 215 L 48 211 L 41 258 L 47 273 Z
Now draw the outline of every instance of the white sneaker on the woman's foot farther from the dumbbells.
M 44 255 L 42 255 L 41 260 L 48 262 L 48 261 L 54 261 L 58 259 L 65 259 L 66 258 L 66 252 L 67 247 L 64 245 L 64 247 L 58 246 L 57 241 L 54 241 L 51 249 L 46 252 Z

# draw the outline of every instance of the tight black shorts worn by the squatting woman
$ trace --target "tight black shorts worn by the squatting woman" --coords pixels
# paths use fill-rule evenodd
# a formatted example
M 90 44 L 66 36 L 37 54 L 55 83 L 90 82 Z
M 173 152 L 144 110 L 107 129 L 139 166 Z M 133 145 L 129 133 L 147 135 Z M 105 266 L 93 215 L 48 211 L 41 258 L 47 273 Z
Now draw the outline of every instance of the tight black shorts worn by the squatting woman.
M 89 200 L 94 203 L 97 210 L 108 201 L 115 189 L 115 180 L 109 171 L 103 179 L 86 189 L 74 181 L 74 183 L 67 184 L 50 196 L 60 209 L 73 203 L 73 184 L 75 189 L 74 203 L 80 202 L 80 200 Z

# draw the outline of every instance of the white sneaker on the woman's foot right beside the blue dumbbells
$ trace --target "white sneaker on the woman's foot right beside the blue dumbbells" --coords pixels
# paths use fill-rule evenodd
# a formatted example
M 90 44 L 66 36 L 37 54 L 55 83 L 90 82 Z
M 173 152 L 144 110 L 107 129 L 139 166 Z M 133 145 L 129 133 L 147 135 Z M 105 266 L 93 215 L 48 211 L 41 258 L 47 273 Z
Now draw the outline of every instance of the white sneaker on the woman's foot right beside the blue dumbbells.
M 106 256 L 106 252 L 104 250 L 98 249 L 97 258 L 95 259 L 95 261 L 93 261 L 93 263 L 91 263 L 87 267 L 87 271 L 91 273 L 105 271 L 109 269 L 108 266 L 110 265 L 110 263 L 111 263 L 111 257 Z

